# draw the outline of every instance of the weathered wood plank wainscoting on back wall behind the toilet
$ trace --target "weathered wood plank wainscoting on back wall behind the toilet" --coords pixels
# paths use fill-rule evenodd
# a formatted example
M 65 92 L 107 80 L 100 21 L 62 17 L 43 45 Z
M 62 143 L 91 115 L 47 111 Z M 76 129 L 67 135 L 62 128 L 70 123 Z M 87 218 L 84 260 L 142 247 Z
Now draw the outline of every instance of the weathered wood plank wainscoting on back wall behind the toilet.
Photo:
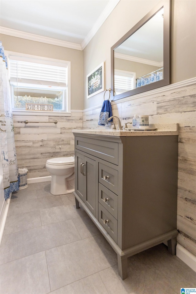
M 44 123 L 55 120 L 57 124 Z M 82 111 L 71 111 L 71 116 L 13 115 L 13 122 L 18 167 L 28 169 L 28 179 L 39 178 L 50 175 L 47 159 L 74 156 L 72 129 L 82 129 Z

